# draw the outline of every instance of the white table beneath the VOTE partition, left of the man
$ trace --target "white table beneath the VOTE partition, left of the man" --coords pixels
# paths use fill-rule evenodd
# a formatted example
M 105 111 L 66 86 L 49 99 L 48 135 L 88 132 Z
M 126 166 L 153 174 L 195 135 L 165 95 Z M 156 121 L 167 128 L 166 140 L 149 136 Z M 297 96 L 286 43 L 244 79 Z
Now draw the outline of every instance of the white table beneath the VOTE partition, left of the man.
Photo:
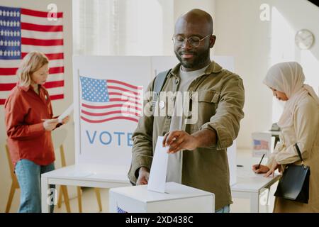
M 110 165 L 77 164 L 46 172 L 41 175 L 41 206 L 47 213 L 49 184 L 73 185 L 81 187 L 113 188 L 130 186 L 128 167 Z M 55 194 L 57 197 L 57 194 Z

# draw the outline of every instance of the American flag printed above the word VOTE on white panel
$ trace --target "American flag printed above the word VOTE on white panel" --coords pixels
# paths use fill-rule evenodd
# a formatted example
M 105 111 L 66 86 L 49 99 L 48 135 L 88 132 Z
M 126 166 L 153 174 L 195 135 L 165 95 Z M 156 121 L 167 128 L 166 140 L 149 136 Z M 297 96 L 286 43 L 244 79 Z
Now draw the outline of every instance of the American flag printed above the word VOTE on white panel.
M 138 122 L 142 114 L 142 87 L 115 79 L 80 77 L 81 119 L 89 123 L 113 120 Z

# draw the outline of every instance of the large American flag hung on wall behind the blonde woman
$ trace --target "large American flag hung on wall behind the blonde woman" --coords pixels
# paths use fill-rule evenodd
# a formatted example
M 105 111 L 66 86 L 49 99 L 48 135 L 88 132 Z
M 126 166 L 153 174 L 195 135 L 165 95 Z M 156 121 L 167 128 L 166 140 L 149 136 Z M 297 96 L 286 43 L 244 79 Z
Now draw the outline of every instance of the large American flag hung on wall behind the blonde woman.
M 57 13 L 56 21 L 49 21 L 45 11 L 0 6 L 0 105 L 16 86 L 16 70 L 30 51 L 43 52 L 49 58 L 45 88 L 52 100 L 63 99 L 62 16 Z

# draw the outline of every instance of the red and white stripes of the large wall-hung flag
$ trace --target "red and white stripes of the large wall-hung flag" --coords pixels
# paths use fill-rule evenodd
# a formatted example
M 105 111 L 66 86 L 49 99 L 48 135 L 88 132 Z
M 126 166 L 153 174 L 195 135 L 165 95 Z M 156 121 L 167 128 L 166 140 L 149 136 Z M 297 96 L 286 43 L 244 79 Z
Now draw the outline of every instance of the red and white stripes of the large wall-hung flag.
M 45 53 L 50 60 L 45 88 L 52 100 L 64 98 L 63 14 L 57 21 L 49 21 L 47 12 L 21 9 L 21 57 L 30 51 Z M 0 105 L 16 86 L 16 70 L 21 60 L 0 60 Z

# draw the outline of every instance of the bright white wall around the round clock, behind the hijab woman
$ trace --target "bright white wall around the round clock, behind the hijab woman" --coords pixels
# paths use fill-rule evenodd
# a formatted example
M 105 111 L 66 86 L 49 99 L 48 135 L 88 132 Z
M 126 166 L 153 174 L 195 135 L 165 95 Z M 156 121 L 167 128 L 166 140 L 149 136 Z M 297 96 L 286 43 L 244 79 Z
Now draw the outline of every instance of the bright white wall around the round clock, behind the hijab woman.
M 286 7 L 289 4 L 289 7 Z M 282 61 L 297 61 L 303 66 L 306 84 L 310 84 L 319 94 L 319 7 L 306 0 L 275 2 L 272 10 L 272 64 Z M 296 9 L 300 13 L 296 13 Z M 315 44 L 310 50 L 300 50 L 295 45 L 294 36 L 301 29 L 308 29 L 315 35 Z M 281 37 L 276 34 L 283 33 Z M 288 35 L 287 35 L 288 34 Z M 286 36 L 283 38 L 283 36 Z M 276 48 L 274 48 L 274 46 Z M 283 104 L 273 99 L 273 122 L 278 121 Z

